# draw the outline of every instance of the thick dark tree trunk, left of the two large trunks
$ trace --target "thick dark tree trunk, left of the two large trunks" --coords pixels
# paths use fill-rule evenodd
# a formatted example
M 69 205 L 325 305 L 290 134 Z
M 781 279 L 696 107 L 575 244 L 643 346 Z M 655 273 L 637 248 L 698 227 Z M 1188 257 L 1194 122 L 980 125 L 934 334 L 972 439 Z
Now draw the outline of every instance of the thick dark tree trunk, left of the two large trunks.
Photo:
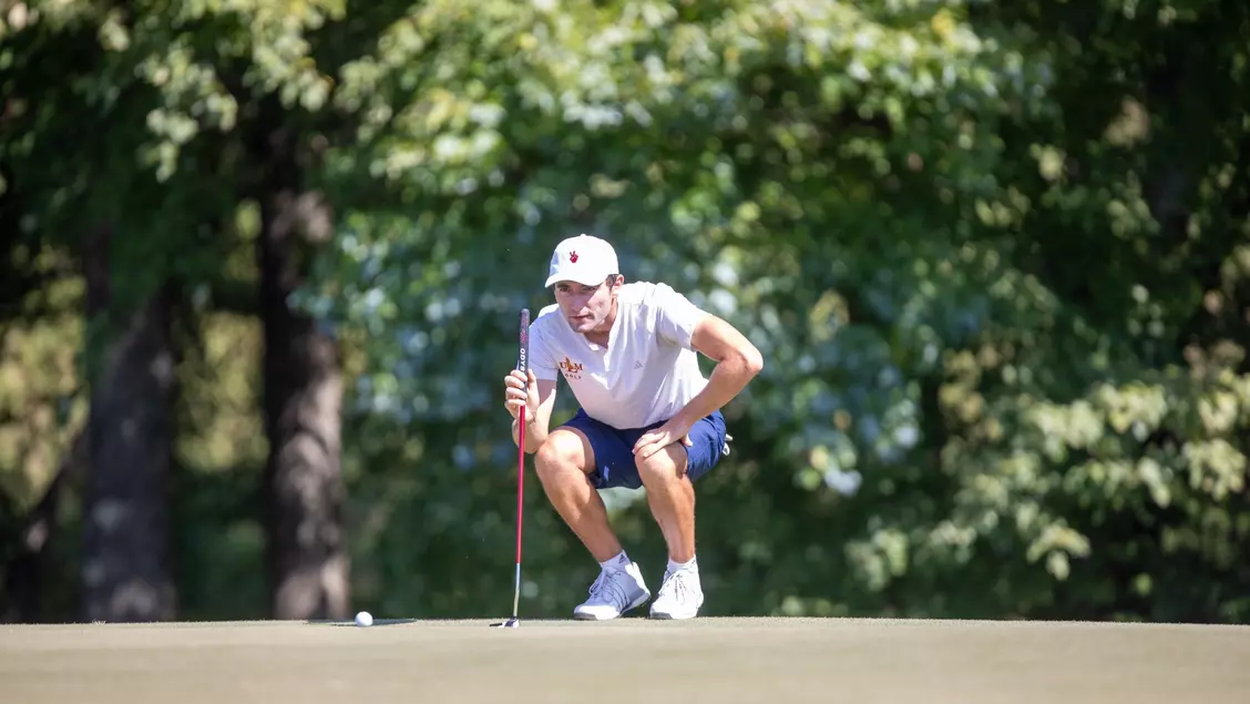
M 86 249 L 91 400 L 82 496 L 82 615 L 174 616 L 166 496 L 174 446 L 172 315 L 168 290 L 135 306 L 111 288 L 108 231 Z

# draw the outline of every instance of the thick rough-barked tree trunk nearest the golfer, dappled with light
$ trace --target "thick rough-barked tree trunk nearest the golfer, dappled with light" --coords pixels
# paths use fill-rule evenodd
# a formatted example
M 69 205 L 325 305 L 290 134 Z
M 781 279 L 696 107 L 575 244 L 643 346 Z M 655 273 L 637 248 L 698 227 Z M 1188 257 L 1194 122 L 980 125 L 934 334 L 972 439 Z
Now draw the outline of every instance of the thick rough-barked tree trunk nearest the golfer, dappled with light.
M 261 145 L 260 310 L 264 404 L 270 450 L 264 475 L 271 611 L 275 619 L 341 619 L 349 613 L 338 343 L 291 309 L 301 254 L 324 235 L 325 206 L 299 191 L 290 134 Z

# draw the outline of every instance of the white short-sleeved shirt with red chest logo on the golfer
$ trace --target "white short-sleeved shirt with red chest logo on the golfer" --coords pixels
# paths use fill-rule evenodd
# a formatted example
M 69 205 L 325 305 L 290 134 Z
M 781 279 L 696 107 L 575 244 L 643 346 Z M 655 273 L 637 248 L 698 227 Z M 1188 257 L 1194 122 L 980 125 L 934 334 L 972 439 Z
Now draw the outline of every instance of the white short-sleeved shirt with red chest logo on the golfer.
M 529 364 L 564 376 L 586 415 L 612 428 L 672 418 L 708 384 L 690 336 L 702 311 L 666 284 L 621 286 L 608 346 L 575 333 L 556 304 L 530 324 Z

